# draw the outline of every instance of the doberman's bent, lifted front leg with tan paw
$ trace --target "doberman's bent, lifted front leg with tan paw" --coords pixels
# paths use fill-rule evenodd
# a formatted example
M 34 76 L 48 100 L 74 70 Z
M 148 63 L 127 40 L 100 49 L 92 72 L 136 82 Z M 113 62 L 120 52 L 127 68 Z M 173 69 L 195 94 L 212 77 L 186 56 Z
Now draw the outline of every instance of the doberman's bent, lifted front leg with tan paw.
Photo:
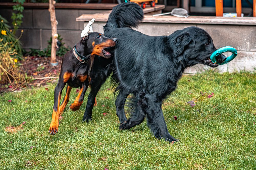
M 80 106 L 83 103 L 84 94 L 85 94 L 88 86 L 89 86 L 89 81 L 87 79 L 87 81 L 80 87 L 78 96 L 76 97 L 75 101 L 69 106 L 69 108 L 72 111 L 77 111 L 80 109 Z

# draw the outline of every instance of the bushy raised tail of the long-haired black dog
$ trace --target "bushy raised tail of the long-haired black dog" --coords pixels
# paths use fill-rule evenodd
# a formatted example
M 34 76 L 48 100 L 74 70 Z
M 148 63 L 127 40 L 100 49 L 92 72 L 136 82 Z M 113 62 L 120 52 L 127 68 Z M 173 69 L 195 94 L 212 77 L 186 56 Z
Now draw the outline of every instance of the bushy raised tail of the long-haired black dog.
M 104 26 L 104 32 L 115 28 L 137 28 L 143 19 L 142 8 L 135 3 L 122 3 L 115 6 L 109 15 L 109 19 Z

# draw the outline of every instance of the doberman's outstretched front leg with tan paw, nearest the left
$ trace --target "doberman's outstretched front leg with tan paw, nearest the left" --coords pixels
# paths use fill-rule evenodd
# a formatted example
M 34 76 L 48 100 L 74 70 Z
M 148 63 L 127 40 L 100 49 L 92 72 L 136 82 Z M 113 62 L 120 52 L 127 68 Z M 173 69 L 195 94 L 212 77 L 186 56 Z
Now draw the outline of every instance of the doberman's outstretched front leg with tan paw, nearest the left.
M 60 117 L 60 99 L 61 92 L 65 87 L 66 83 L 59 80 L 57 86 L 54 89 L 54 106 L 52 111 L 52 120 L 49 128 L 50 135 L 55 135 L 58 133 L 59 128 L 59 117 Z

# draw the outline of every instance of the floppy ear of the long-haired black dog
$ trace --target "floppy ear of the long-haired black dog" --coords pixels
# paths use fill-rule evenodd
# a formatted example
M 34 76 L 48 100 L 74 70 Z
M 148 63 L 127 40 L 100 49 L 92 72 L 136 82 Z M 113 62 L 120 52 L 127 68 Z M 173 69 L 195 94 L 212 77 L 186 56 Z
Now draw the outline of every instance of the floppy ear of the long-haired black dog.
M 189 35 L 188 32 L 183 32 L 178 35 L 173 44 L 174 44 L 174 54 L 175 56 L 179 56 L 183 53 L 184 48 L 191 42 L 192 37 Z

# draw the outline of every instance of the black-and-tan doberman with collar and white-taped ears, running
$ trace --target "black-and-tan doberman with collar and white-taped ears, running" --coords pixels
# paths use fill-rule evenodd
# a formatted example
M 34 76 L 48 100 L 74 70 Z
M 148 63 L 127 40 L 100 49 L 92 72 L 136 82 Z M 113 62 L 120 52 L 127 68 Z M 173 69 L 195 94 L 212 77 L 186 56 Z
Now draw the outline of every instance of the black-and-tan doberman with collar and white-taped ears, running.
M 59 117 L 68 104 L 71 89 L 80 87 L 78 96 L 69 106 L 72 111 L 76 111 L 82 105 L 89 86 L 94 56 L 110 58 L 112 55 L 107 48 L 115 46 L 115 42 L 116 38 L 107 38 L 98 32 L 87 32 L 87 36 L 81 36 L 81 41 L 63 56 L 59 81 L 54 90 L 54 107 L 49 128 L 51 135 L 58 133 Z M 66 84 L 66 95 L 60 105 L 61 92 Z

